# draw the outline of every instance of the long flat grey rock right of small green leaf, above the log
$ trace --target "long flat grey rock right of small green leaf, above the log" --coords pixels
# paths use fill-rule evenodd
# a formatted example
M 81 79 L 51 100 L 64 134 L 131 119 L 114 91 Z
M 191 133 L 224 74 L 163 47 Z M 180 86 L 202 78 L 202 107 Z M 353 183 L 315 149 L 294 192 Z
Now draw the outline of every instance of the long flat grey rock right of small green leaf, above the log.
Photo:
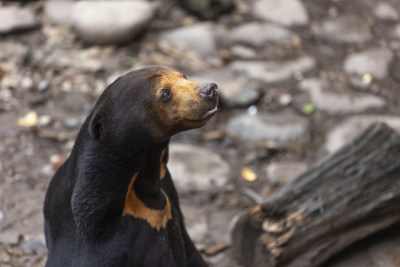
M 386 101 L 366 93 L 337 93 L 329 91 L 333 86 L 324 80 L 306 79 L 300 88 L 309 93 L 312 103 L 320 110 L 330 113 L 362 112 L 370 108 L 382 108 Z M 343 84 L 343 86 L 346 86 Z

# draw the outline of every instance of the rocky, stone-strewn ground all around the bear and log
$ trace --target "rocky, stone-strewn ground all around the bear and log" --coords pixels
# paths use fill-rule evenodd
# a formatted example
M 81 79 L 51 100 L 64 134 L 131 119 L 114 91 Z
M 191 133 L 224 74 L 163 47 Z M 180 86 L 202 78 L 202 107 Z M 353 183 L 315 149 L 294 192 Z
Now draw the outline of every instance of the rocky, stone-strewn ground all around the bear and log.
M 371 123 L 400 132 L 398 1 L 182 2 L 0 2 L 1 266 L 43 265 L 50 178 L 96 98 L 131 69 L 219 85 L 221 111 L 173 139 L 169 164 L 212 266 L 239 266 L 236 214 Z M 399 240 L 392 229 L 329 266 L 399 266 Z

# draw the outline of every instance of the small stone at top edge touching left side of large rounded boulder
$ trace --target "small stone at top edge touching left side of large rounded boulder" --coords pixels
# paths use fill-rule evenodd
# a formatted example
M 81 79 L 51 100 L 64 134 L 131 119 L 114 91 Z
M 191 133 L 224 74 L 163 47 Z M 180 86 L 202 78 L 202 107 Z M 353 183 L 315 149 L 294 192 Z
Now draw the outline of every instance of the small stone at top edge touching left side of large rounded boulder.
M 75 1 L 45 1 L 44 14 L 51 23 L 56 25 L 69 25 L 71 23 L 71 13 Z

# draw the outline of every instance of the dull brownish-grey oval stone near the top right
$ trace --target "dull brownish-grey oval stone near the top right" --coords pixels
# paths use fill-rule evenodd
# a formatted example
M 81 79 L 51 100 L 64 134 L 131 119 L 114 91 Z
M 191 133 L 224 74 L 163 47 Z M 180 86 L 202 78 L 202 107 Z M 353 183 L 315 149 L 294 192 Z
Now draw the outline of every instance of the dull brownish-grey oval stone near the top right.
M 312 31 L 318 37 L 343 44 L 364 43 L 372 39 L 367 25 L 353 16 L 327 19 L 320 27 L 314 27 Z

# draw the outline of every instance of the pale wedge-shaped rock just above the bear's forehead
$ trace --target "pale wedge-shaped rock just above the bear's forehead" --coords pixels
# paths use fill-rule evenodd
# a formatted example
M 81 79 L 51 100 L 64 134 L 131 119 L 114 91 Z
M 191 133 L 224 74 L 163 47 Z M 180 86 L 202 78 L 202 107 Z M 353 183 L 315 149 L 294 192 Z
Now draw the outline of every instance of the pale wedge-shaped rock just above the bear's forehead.
M 163 32 L 158 40 L 181 51 L 191 50 L 199 56 L 215 57 L 219 52 L 214 31 L 215 25 L 205 22 Z

